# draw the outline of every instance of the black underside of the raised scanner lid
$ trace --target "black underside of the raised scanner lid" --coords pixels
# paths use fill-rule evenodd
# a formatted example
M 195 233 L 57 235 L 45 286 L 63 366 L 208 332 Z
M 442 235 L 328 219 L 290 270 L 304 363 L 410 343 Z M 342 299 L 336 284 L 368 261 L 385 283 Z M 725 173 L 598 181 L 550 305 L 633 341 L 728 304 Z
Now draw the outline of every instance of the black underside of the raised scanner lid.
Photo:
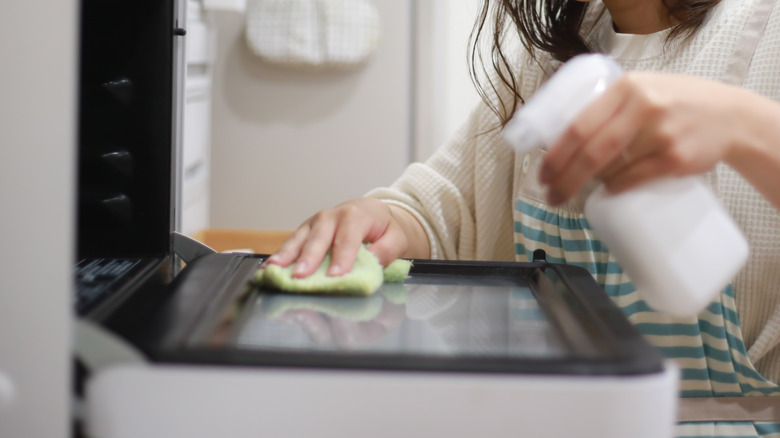
M 82 1 L 79 259 L 171 253 L 173 13 L 172 0 Z

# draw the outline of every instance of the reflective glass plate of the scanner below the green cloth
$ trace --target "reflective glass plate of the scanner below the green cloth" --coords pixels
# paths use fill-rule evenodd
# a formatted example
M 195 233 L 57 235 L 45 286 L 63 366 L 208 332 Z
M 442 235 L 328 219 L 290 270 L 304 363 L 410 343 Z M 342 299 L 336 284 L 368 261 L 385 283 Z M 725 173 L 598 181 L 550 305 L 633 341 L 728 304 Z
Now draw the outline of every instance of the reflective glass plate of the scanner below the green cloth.
M 259 294 L 239 348 L 361 354 L 551 358 L 567 354 L 518 282 L 414 276 L 369 297 Z

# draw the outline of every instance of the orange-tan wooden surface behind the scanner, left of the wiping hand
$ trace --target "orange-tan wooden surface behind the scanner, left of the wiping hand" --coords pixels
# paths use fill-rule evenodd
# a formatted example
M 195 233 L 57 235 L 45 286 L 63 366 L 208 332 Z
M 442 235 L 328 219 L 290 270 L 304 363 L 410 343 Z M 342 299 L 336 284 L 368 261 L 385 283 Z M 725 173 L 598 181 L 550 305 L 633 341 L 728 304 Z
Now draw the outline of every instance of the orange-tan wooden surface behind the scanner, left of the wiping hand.
M 291 230 L 208 229 L 192 237 L 217 252 L 249 250 L 256 254 L 272 254 L 290 234 Z

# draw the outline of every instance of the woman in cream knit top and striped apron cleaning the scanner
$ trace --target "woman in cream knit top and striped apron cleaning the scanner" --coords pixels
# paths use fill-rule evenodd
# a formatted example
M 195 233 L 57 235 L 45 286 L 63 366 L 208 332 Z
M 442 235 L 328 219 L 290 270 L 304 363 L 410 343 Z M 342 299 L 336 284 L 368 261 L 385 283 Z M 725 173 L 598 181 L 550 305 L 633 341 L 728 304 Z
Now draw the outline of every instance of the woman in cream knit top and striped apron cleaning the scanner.
M 390 187 L 319 212 L 270 263 L 330 275 L 357 247 L 394 258 L 580 265 L 682 369 L 683 397 L 780 395 L 780 10 L 775 0 L 486 1 L 485 105 L 426 163 Z M 487 32 L 488 22 L 494 26 Z M 519 55 L 512 46 L 515 41 Z M 562 62 L 584 52 L 631 73 L 581 114 L 549 153 L 515 154 L 500 128 Z M 482 76 L 473 63 L 475 77 Z M 484 77 L 484 76 L 483 76 Z M 702 173 L 751 245 L 751 259 L 698 319 L 652 311 L 582 215 L 594 178 L 613 191 Z M 680 436 L 771 436 L 780 424 L 681 423 Z

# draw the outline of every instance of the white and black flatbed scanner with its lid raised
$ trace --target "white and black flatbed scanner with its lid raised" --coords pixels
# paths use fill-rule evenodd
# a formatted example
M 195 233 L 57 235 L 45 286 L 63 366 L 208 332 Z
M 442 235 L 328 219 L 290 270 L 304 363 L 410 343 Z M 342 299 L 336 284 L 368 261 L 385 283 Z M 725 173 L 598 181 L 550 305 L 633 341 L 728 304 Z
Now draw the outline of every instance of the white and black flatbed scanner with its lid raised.
M 414 260 L 368 297 L 178 234 L 183 5 L 82 5 L 79 434 L 673 436 L 676 369 L 583 269 Z

